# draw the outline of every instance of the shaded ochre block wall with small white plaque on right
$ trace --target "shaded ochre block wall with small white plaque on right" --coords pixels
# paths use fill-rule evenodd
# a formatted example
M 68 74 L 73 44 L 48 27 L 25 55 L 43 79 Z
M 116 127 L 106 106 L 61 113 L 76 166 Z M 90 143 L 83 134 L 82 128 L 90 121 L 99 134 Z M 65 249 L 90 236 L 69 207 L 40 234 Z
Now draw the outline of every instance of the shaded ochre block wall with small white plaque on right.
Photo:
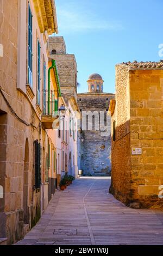
M 130 150 L 142 149 L 131 154 L 132 196 L 140 207 L 163 207 L 162 92 L 163 70 L 130 70 Z

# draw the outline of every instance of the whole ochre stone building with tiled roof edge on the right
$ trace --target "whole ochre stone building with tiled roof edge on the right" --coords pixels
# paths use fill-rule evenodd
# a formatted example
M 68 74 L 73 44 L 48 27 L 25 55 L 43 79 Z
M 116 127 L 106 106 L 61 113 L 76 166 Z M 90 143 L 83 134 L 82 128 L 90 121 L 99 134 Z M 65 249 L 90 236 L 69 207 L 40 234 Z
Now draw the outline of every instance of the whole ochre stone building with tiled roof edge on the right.
M 110 192 L 132 208 L 162 208 L 163 63 L 116 65 Z

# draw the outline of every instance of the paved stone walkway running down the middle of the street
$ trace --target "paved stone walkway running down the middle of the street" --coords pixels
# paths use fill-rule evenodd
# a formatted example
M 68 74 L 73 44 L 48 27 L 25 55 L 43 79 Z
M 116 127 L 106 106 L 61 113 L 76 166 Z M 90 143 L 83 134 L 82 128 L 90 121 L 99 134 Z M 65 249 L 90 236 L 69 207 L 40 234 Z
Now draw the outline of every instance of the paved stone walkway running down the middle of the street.
M 110 179 L 77 179 L 57 191 L 17 245 L 163 245 L 163 212 L 130 209 L 108 194 Z

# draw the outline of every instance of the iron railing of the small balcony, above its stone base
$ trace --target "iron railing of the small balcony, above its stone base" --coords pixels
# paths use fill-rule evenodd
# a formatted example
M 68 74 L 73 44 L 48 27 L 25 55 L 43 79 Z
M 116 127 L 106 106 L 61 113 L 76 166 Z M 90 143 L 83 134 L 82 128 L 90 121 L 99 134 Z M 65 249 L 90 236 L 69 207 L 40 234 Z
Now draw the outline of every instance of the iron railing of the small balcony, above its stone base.
M 58 115 L 58 90 L 43 90 L 43 115 Z

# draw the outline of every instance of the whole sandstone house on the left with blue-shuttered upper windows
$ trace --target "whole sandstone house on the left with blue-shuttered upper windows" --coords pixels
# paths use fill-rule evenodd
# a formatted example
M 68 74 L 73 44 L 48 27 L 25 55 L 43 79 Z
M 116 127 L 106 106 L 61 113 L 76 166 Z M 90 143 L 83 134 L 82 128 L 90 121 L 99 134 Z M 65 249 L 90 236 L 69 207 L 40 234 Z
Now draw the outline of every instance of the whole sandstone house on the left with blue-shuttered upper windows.
M 2 0 L 0 20 L 0 243 L 11 244 L 35 225 L 47 205 L 54 161 L 49 161 L 46 129 L 56 118 L 52 106 L 59 106 L 57 69 L 47 46 L 58 26 L 53 0 Z M 47 93 L 52 64 L 53 100 Z

